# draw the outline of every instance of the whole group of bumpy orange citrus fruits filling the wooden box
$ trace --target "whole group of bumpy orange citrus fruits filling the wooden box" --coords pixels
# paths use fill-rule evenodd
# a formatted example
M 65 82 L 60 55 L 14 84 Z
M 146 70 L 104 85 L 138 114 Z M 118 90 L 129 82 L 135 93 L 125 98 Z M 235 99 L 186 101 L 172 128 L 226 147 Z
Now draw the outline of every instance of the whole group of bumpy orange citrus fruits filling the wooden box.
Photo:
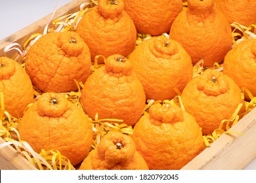
M 1 109 L 35 152 L 58 150 L 77 169 L 181 169 L 244 105 L 243 88 L 256 95 L 256 39 L 234 46 L 230 27 L 256 23 L 246 2 L 232 14 L 228 0 L 99 0 L 74 30 L 41 36 L 25 68 L 0 58 Z

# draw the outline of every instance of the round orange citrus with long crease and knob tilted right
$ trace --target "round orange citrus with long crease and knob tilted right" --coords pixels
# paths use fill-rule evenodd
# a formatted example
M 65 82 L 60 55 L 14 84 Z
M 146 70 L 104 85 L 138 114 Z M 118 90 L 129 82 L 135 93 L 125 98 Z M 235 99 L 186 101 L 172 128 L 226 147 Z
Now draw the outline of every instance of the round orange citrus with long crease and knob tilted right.
M 74 31 L 47 33 L 32 45 L 26 56 L 26 72 L 42 92 L 71 92 L 91 72 L 87 44 Z

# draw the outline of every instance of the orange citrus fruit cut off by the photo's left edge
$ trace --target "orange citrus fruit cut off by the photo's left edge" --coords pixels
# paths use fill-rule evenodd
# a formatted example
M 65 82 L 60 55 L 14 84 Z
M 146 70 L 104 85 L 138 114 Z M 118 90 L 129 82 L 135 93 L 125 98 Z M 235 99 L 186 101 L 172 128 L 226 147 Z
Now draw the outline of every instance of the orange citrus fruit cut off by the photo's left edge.
M 15 118 L 24 114 L 26 107 L 33 102 L 33 86 L 30 77 L 16 61 L 0 58 L 0 92 L 3 92 L 5 110 Z

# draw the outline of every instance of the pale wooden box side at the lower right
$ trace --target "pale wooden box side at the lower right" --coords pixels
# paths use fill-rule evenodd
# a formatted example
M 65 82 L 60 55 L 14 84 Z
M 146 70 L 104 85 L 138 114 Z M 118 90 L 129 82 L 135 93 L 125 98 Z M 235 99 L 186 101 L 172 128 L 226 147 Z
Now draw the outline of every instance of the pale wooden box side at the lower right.
M 182 169 L 244 169 L 256 158 L 256 108 Z

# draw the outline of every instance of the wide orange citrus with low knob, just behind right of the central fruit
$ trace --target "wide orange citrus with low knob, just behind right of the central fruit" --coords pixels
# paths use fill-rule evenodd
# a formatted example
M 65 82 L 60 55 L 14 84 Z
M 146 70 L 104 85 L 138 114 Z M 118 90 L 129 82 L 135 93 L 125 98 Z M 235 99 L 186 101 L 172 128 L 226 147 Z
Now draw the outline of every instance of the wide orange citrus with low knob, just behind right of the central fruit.
M 166 37 L 142 41 L 129 56 L 147 99 L 172 99 L 193 74 L 190 56 L 179 42 Z

